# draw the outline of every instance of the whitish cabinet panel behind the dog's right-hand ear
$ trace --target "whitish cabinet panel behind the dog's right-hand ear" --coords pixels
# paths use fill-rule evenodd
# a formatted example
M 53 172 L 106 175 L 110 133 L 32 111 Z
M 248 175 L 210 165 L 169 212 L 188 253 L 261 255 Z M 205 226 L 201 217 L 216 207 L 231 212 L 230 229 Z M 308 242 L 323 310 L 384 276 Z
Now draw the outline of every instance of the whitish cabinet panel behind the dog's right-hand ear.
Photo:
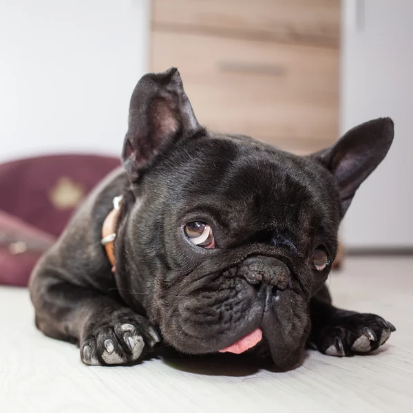
M 342 39 L 341 131 L 379 116 L 395 123 L 387 158 L 350 206 L 344 241 L 413 247 L 413 1 L 343 0 Z

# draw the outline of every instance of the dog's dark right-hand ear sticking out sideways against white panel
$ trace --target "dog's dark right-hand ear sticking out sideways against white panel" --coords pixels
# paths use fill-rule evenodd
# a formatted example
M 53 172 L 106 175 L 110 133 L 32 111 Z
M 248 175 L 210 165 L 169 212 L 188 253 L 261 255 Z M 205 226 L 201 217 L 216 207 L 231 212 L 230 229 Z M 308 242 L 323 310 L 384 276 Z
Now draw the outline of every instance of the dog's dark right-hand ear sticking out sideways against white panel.
M 343 218 L 354 193 L 383 160 L 392 145 L 394 125 L 390 118 L 370 120 L 350 129 L 332 147 L 314 153 L 336 178 Z

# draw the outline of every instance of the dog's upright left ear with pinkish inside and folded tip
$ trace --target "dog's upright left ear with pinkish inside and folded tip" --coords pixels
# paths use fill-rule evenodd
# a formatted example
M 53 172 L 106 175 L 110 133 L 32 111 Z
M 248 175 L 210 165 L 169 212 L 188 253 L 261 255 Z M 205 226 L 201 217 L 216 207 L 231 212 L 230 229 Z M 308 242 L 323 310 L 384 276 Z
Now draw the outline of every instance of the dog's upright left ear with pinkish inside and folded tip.
M 138 179 L 156 156 L 178 140 L 203 131 L 175 67 L 163 73 L 145 74 L 131 97 L 122 151 L 122 163 L 129 178 Z

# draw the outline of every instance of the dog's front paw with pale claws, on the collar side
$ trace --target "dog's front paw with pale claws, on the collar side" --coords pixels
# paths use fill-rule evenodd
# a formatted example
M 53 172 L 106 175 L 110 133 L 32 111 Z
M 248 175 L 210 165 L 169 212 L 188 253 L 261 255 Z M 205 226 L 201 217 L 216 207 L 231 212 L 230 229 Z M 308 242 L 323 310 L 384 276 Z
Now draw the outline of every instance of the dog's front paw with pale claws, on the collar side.
M 159 341 L 158 333 L 145 317 L 112 314 L 87 324 L 81 340 L 81 359 L 92 366 L 132 363 Z

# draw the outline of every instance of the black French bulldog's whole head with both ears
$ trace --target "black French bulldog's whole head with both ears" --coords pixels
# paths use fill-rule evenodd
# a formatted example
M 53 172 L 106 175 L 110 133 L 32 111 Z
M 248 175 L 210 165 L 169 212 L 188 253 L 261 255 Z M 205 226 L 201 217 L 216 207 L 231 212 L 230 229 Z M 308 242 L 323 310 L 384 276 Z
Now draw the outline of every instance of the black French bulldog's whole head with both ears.
M 246 346 L 242 337 L 262 332 L 249 351 L 293 367 L 339 222 L 392 138 L 381 118 L 294 156 L 201 127 L 176 69 L 143 76 L 123 148 L 131 187 L 116 277 L 125 300 L 182 352 Z

